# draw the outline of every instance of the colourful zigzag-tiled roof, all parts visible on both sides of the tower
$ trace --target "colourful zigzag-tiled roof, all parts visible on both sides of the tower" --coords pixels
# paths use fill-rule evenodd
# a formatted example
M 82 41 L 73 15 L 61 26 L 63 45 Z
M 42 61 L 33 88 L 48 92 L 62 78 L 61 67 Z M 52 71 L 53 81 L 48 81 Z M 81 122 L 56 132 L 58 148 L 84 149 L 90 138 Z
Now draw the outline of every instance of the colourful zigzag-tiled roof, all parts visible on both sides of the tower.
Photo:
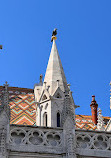
M 3 86 L 0 86 L 0 95 Z M 8 87 L 9 106 L 11 109 L 11 124 L 34 125 L 36 120 L 34 91 L 33 89 Z M 103 117 L 105 124 L 110 117 Z M 96 130 L 96 125 L 92 122 L 91 116 L 76 115 L 76 128 L 83 130 Z

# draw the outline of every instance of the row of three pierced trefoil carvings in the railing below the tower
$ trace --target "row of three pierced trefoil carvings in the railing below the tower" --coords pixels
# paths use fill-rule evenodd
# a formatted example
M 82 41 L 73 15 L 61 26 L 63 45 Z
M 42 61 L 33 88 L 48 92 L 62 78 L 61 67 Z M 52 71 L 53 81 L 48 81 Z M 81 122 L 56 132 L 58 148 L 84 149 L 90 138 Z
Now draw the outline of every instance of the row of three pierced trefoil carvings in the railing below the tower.
M 15 145 L 43 145 L 58 147 L 62 145 L 61 133 L 54 131 L 41 131 L 38 129 L 24 130 L 14 128 L 10 131 L 10 143 Z

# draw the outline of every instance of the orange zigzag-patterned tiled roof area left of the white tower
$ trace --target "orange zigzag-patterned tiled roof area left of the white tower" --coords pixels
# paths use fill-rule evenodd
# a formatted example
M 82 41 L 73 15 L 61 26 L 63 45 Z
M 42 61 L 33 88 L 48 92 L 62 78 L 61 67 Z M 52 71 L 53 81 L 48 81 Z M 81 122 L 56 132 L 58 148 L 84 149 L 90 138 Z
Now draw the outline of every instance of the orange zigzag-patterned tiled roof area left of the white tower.
M 3 87 L 0 86 L 2 94 Z M 33 125 L 35 123 L 34 92 L 32 89 L 8 87 L 11 124 Z

